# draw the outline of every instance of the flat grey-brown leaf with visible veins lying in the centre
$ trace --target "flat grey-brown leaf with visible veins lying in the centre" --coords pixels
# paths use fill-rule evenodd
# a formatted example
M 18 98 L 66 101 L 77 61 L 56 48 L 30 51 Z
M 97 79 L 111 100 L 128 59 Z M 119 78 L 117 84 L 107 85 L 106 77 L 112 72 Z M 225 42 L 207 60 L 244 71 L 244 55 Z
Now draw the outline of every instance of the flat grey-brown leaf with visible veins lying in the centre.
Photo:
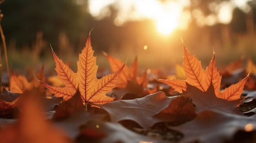
M 97 106 L 109 113 L 112 122 L 133 120 L 141 127 L 149 128 L 154 123 L 159 122 L 152 116 L 168 107 L 174 98 L 165 96 L 164 92 L 158 92 L 139 99 L 118 100 Z

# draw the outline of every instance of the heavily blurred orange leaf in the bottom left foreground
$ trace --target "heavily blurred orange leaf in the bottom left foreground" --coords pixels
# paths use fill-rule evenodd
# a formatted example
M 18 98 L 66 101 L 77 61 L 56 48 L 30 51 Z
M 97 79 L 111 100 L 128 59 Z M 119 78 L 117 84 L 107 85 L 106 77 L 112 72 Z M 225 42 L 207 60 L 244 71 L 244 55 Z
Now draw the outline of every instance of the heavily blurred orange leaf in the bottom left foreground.
M 32 90 L 20 98 L 21 110 L 18 122 L 0 130 L 1 142 L 4 143 L 70 143 L 71 141 L 56 127 L 45 120 L 43 110 L 38 106 L 38 99 Z

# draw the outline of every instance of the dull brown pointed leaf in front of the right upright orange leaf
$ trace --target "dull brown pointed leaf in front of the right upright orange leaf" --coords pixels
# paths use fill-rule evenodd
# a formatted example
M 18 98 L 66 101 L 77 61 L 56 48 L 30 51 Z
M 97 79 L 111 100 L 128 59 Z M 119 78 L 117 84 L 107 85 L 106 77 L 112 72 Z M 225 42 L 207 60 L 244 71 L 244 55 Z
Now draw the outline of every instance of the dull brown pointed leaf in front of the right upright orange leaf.
M 184 91 L 183 94 L 187 93 L 190 93 L 190 97 L 192 98 L 193 103 L 196 105 L 196 113 L 208 109 L 243 115 L 236 107 L 243 100 L 243 98 L 232 101 L 218 98 L 214 93 L 213 84 L 210 84 L 209 88 L 203 92 L 197 87 L 187 83 L 187 91 Z

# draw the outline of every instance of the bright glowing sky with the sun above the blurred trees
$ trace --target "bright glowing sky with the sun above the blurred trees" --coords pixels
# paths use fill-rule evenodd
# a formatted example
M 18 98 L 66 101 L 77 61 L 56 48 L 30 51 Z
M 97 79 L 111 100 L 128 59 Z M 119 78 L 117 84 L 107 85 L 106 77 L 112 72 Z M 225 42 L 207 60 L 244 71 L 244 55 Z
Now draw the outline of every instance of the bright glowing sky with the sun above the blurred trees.
M 77 3 L 81 0 L 77 0 Z M 250 11 L 247 5 L 249 0 L 231 0 L 209 4 L 209 9 L 214 14 L 204 15 L 199 9 L 194 11 L 183 11 L 184 7 L 190 6 L 190 0 L 167 1 L 164 4 L 159 0 L 89 0 L 89 12 L 93 17 L 100 20 L 110 15 L 107 5 L 115 3 L 119 10 L 114 23 L 121 26 L 129 20 L 153 19 L 156 28 L 162 34 L 170 34 L 172 30 L 186 29 L 192 16 L 196 18 L 198 26 L 212 26 L 216 23 L 228 24 L 232 20 L 232 11 L 239 7 L 244 12 Z M 133 10 L 133 12 L 131 12 Z

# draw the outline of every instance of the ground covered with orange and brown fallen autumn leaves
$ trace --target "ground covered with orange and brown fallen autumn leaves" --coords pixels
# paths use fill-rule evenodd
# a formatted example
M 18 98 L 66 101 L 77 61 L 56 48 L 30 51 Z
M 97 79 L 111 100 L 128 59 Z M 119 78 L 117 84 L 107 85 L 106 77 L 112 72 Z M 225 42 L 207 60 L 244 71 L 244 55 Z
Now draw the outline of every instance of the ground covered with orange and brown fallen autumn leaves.
M 145 69 L 104 52 L 113 73 L 97 78 L 90 35 L 77 72 L 52 50 L 58 76 L 30 81 L 12 71 L 0 94 L 3 143 L 256 142 L 256 66 L 241 57 L 206 70 L 184 50 L 175 74 Z M 140 74 L 140 76 L 139 76 Z M 113 90 L 113 91 L 112 91 Z

